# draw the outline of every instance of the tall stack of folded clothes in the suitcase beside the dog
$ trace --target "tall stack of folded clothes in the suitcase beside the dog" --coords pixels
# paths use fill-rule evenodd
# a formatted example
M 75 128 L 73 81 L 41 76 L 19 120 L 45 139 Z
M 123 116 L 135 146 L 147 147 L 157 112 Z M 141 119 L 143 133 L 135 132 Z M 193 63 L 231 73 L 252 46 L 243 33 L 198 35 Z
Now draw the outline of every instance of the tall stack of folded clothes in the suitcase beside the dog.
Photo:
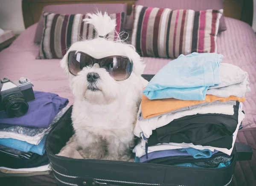
M 134 128 L 135 161 L 221 168 L 232 160 L 248 74 L 216 53 L 180 55 L 148 83 Z

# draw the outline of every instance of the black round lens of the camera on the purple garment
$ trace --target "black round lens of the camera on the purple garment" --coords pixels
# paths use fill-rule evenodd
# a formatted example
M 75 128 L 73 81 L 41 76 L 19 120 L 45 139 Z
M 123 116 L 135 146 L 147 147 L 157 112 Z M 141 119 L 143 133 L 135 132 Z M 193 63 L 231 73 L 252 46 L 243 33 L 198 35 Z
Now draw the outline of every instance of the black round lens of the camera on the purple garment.
M 26 99 L 20 94 L 10 94 L 4 99 L 3 104 L 6 113 L 12 118 L 25 115 L 29 109 Z

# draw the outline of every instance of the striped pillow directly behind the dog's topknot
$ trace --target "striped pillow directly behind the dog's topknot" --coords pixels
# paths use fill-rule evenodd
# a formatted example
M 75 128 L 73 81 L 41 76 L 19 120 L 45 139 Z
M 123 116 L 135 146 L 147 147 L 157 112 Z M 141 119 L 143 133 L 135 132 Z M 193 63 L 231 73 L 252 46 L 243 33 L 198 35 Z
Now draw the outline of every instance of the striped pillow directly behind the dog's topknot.
M 111 19 L 116 19 L 116 32 L 108 36 L 117 37 L 124 26 L 124 12 L 110 14 Z M 87 17 L 83 14 L 53 14 L 44 12 L 44 28 L 38 59 L 62 58 L 74 42 L 93 39 L 97 32 L 93 26 L 82 20 Z

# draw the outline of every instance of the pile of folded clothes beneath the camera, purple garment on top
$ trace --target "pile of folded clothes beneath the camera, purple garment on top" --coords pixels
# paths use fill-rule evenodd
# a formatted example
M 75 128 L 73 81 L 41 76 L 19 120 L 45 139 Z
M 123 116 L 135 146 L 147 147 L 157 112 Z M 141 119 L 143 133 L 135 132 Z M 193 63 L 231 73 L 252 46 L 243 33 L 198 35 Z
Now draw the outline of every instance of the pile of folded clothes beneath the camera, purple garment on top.
M 10 118 L 0 112 L 0 178 L 48 175 L 51 167 L 44 143 L 52 125 L 67 110 L 68 99 L 34 91 L 28 112 Z

